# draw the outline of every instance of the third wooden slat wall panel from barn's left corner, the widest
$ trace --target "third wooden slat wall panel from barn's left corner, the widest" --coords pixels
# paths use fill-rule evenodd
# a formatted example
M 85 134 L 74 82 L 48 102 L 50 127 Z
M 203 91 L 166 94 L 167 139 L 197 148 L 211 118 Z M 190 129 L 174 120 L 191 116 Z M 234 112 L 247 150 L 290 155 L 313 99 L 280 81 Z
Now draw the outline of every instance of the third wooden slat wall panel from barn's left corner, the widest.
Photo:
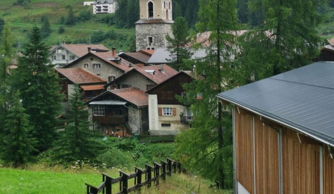
M 283 192 L 285 194 L 316 194 L 319 183 L 319 146 L 299 143 L 297 133 L 282 133 Z

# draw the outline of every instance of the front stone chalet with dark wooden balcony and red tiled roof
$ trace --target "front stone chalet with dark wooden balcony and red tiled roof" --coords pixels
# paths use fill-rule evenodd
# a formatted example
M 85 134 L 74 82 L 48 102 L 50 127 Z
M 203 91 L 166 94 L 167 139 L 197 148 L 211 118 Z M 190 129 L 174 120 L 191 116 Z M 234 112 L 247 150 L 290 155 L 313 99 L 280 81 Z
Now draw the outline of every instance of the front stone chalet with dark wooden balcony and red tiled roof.
M 86 102 L 90 121 L 108 135 L 148 131 L 148 94 L 135 87 L 108 90 Z

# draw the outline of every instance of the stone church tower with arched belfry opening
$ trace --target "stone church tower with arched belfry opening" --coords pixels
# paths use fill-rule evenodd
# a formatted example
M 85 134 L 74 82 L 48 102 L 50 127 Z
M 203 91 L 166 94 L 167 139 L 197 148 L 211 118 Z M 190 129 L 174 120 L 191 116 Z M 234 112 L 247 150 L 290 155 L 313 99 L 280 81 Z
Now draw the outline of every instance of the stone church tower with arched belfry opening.
M 172 0 L 140 0 L 140 20 L 135 23 L 136 50 L 167 47 L 172 35 Z

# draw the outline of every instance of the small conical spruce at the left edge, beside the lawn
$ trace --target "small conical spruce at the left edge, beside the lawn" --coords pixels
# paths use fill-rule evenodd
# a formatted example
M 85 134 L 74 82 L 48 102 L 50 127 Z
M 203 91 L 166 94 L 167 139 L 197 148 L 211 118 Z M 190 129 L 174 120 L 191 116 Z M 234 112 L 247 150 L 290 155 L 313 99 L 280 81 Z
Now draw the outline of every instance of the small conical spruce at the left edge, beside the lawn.
M 0 150 L 5 163 L 13 163 L 16 167 L 32 159 L 32 153 L 36 151 L 34 148 L 36 140 L 32 138 L 29 115 L 25 113 L 21 105 L 19 91 L 16 91 L 11 97 L 10 108 L 0 139 Z

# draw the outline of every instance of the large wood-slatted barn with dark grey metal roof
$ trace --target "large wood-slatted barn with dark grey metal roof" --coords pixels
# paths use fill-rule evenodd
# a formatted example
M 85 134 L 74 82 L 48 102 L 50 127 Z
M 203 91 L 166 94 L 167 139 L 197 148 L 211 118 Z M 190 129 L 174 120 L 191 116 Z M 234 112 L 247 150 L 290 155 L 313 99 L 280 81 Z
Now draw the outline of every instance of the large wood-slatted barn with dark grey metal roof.
M 334 63 L 217 97 L 233 106 L 235 193 L 334 193 Z

